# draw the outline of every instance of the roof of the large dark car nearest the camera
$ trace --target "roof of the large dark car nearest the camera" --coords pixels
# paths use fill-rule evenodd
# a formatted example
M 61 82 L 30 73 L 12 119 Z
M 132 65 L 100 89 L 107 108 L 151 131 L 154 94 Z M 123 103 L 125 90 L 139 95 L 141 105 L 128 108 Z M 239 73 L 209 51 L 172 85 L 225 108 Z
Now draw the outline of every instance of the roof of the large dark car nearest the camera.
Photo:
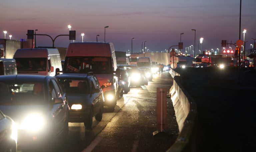
M 18 75 L 3 75 L 0 76 L 1 81 L 11 81 L 11 82 L 44 82 L 54 77 L 45 75 L 31 75 L 31 74 L 18 74 Z

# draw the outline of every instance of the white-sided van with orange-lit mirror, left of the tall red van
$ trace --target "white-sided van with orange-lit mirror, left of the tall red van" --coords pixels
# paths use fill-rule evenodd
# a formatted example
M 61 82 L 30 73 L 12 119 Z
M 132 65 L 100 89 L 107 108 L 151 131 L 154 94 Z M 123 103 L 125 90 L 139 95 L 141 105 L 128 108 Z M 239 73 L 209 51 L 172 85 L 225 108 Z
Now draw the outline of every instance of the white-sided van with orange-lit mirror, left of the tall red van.
M 18 49 L 13 58 L 16 60 L 18 74 L 54 76 L 54 69 L 62 70 L 58 49 Z

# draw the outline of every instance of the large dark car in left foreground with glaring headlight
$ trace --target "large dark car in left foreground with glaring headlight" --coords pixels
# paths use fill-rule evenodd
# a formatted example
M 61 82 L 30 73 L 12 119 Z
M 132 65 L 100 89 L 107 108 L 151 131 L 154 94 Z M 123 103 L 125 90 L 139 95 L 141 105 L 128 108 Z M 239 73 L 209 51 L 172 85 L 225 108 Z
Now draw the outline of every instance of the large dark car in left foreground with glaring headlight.
M 56 78 L 0 76 L 0 99 L 0 110 L 17 123 L 18 150 L 52 147 L 56 138 L 67 139 L 69 107 Z

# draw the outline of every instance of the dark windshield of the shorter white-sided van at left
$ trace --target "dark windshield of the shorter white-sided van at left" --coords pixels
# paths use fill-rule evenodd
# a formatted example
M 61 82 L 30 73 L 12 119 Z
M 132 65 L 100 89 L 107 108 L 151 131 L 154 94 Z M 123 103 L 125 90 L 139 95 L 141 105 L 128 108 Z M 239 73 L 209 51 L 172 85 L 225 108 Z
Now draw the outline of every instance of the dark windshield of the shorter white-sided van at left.
M 45 71 L 47 58 L 15 58 L 17 71 Z

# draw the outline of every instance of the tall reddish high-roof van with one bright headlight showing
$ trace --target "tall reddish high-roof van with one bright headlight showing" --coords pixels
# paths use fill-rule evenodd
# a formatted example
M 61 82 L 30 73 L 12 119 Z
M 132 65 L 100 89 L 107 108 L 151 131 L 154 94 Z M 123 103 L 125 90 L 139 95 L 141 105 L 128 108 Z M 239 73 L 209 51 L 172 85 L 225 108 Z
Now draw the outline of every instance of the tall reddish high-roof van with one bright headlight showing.
M 115 49 L 113 43 L 76 42 L 70 43 L 67 49 L 63 73 L 93 72 L 103 89 L 104 105 L 112 111 L 115 108 L 118 94 L 118 78 Z M 117 76 L 117 77 L 116 77 Z

